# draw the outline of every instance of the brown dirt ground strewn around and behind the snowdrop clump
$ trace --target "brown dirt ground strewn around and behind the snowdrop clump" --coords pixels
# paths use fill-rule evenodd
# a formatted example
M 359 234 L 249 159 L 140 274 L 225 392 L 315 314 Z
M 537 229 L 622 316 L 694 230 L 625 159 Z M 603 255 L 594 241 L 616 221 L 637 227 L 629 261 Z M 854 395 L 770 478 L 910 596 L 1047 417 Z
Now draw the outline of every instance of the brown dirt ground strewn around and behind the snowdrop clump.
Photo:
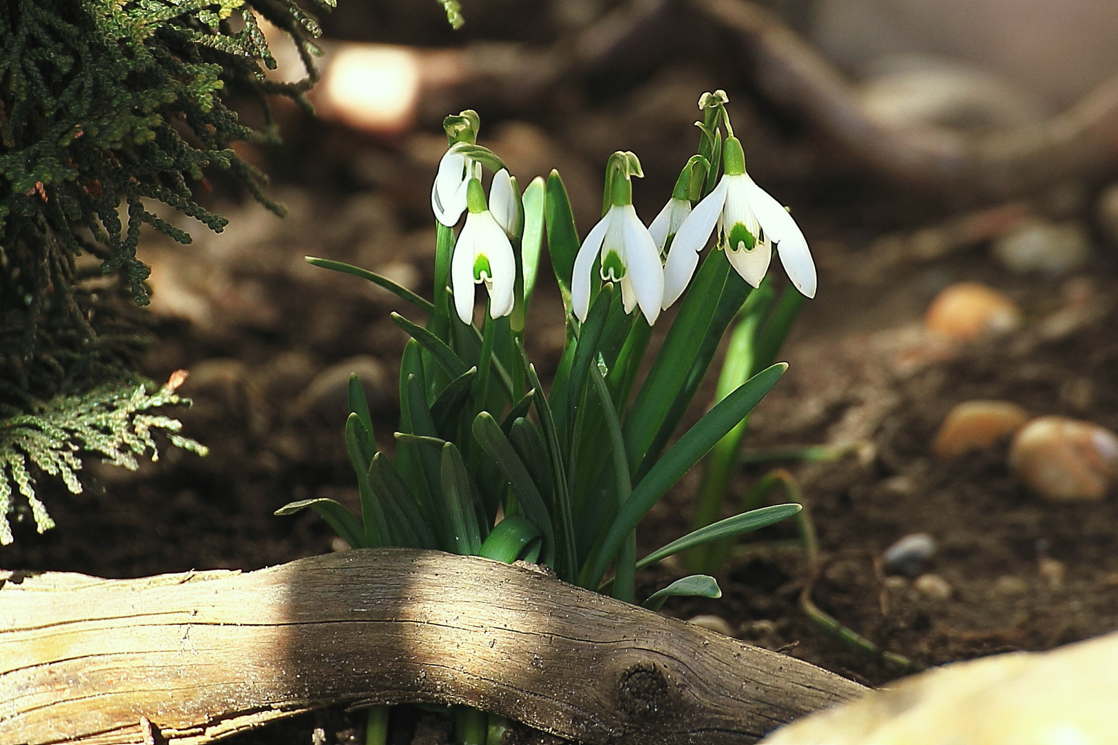
M 809 123 L 767 109 L 748 82 L 665 67 L 624 93 L 600 96 L 594 85 L 567 90 L 543 115 L 482 111 L 482 141 L 506 157 L 521 184 L 560 169 L 580 194 L 580 230 L 591 225 L 600 164 L 616 147 L 642 157 L 648 178 L 636 185 L 637 208 L 651 219 L 692 152 L 694 101 L 727 87 L 750 172 L 793 206 L 808 237 L 818 296 L 800 316 L 783 355 L 790 369 L 752 417 L 746 447 L 830 445 L 846 455 L 742 466 L 731 496 L 777 466 L 796 476 L 819 538 L 815 603 L 918 667 L 1049 649 L 1112 630 L 1112 494 L 1045 502 L 1011 476 L 1005 443 L 954 460 L 931 453 L 945 414 L 968 399 L 1003 399 L 1033 416 L 1064 414 L 1118 430 L 1118 271 L 1112 233 L 1097 209 L 1107 180 L 1062 183 L 1012 204 L 960 204 L 898 188 L 834 156 Z M 471 105 L 467 95 L 455 95 L 454 111 Z M 641 130 L 653 115 L 656 124 Z M 195 230 L 196 242 L 186 248 L 152 236 L 144 251 L 153 267 L 159 340 L 145 370 L 154 379 L 191 371 L 182 393 L 195 407 L 181 418 L 184 432 L 210 455 L 164 451 L 138 474 L 89 462 L 93 488 L 78 497 L 44 481 L 57 527 L 39 536 L 17 526 L 16 544 L 0 550 L 3 566 L 124 577 L 253 570 L 339 547 L 314 515 L 272 513 L 312 496 L 356 503 L 341 436 L 344 381 L 351 370 L 361 375 L 378 439 L 389 448 L 405 336 L 388 313 L 407 309 L 302 257 L 366 266 L 429 296 L 428 195 L 445 141 L 435 117 L 420 117 L 413 132 L 391 139 L 295 113 L 286 118 L 285 145 L 249 153 L 275 174 L 273 193 L 290 210 L 285 220 L 218 181 L 212 200 L 230 218 L 225 233 Z M 1082 225 L 1090 238 L 1086 261 L 1060 276 L 1006 269 L 991 247 L 1023 214 Z M 984 227 L 960 231 L 960 220 Z M 1023 309 L 1021 328 L 970 344 L 929 336 L 922 329 L 928 304 L 961 280 L 1013 298 Z M 538 295 L 530 353 L 547 371 L 558 357 L 561 319 L 557 290 L 547 284 Z M 700 393 L 691 416 L 708 402 L 709 393 Z M 653 512 L 639 534 L 643 550 L 675 537 L 695 484 L 689 475 Z M 937 550 L 918 573 L 941 577 L 945 592 L 887 573 L 884 550 L 912 533 L 935 539 Z M 670 602 L 665 612 L 719 615 L 745 641 L 868 685 L 901 675 L 805 617 L 798 596 L 806 563 L 774 543 L 790 535 L 778 527 L 743 544 L 718 577 L 721 600 Z M 645 593 L 673 571 L 662 566 L 642 577 Z M 328 710 L 228 742 L 307 743 L 315 727 L 325 733 L 321 742 L 347 742 L 357 737 L 356 722 Z M 417 741 L 438 742 L 445 737 L 439 727 L 438 719 L 420 717 Z M 396 736 L 407 742 L 411 733 Z

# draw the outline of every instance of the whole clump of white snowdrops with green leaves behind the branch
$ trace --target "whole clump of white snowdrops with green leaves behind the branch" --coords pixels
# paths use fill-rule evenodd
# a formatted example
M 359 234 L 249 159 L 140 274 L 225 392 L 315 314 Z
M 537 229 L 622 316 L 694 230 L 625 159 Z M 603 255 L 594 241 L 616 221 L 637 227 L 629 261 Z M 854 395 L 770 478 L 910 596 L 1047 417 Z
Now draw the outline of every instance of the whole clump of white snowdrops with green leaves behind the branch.
M 377 449 L 352 378 L 345 443 L 360 514 L 330 499 L 292 503 L 278 514 L 313 508 L 353 547 L 537 562 L 560 580 L 635 602 L 637 570 L 798 512 L 799 505 L 784 504 L 712 522 L 745 419 L 784 373 L 784 363 L 774 364 L 777 351 L 816 284 L 796 222 L 746 172 L 726 104 L 721 90 L 700 99 L 698 153 L 648 227 L 633 207 L 639 160 L 614 153 L 603 217 L 581 241 L 557 171 L 521 192 L 500 157 L 477 144 L 476 113 L 447 117 L 449 147 L 432 188 L 434 298 L 364 269 L 307 259 L 385 287 L 426 316 L 420 325 L 392 314 L 411 337 L 400 364 L 395 453 Z M 705 250 L 712 233 L 714 248 Z M 524 352 L 544 241 L 566 317 L 549 389 Z M 792 281 L 783 294 L 767 278 L 774 254 Z M 673 304 L 680 307 L 664 342 L 651 351 L 652 325 Z M 718 400 L 676 437 L 728 329 Z M 641 520 L 712 449 L 697 529 L 638 558 Z M 695 574 L 644 604 L 659 609 L 672 595 L 719 594 L 713 577 Z M 376 707 L 370 714 L 369 742 L 382 739 L 383 715 Z M 480 713 L 459 714 L 462 742 L 484 743 L 499 733 Z

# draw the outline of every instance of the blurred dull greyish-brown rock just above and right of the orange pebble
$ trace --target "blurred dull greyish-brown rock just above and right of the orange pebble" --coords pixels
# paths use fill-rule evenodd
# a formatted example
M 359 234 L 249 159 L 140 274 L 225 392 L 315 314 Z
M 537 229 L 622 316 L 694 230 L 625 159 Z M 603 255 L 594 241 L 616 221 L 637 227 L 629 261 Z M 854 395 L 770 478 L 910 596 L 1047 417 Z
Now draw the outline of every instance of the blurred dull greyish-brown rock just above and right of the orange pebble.
M 1087 264 L 1091 238 L 1079 222 L 1032 219 L 994 241 L 993 250 L 1002 264 L 1017 274 L 1036 271 L 1062 277 Z

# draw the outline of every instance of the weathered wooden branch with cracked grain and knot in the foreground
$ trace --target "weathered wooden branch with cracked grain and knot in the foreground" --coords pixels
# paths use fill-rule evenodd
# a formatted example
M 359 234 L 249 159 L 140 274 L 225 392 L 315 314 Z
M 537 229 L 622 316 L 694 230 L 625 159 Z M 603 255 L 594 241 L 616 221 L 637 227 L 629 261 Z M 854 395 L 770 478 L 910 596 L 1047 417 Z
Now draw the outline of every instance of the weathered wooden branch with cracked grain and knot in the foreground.
M 584 743 L 748 743 L 864 689 L 476 557 L 0 573 L 0 743 L 207 743 L 328 704 L 467 704 Z

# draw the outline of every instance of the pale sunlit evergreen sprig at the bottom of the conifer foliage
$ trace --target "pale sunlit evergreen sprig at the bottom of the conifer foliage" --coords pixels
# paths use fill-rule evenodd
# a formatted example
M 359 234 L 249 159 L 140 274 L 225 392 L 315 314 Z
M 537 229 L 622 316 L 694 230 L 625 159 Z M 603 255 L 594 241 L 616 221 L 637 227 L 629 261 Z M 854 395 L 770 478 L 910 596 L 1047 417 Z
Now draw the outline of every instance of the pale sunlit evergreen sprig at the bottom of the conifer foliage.
M 205 446 L 179 434 L 179 420 L 152 412 L 189 401 L 174 392 L 172 383 L 153 388 L 144 382 L 103 385 L 51 401 L 36 414 L 0 422 L 0 545 L 12 542 L 10 516 L 21 517 L 23 512 L 12 500 L 13 487 L 27 499 L 39 533 L 54 527 L 36 497 L 29 464 L 80 494 L 80 452 L 97 453 L 114 466 L 135 470 L 138 457 L 150 453 L 153 461 L 159 460 L 153 432 L 162 430 L 176 447 L 206 455 Z

